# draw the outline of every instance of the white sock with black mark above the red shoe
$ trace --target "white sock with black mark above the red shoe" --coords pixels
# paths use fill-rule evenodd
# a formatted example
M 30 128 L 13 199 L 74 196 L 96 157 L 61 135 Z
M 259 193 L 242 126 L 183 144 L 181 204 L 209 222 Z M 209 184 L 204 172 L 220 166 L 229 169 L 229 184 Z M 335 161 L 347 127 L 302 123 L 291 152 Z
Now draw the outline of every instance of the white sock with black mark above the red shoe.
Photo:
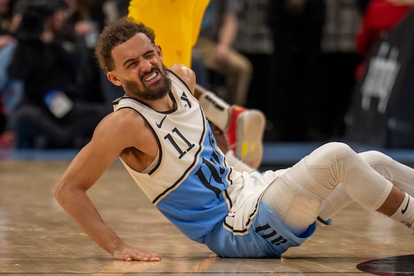
M 215 124 L 219 130 L 225 132 L 230 115 L 228 103 L 210 91 L 204 92 L 198 100 L 207 119 Z

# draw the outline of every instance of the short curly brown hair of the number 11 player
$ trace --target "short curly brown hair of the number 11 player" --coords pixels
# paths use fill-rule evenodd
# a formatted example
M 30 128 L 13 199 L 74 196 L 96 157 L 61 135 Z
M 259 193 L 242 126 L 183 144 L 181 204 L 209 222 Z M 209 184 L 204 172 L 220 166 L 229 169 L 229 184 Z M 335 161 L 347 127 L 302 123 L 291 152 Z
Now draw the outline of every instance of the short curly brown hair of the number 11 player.
M 130 17 L 122 17 L 106 26 L 99 34 L 99 39 L 95 46 L 95 56 L 99 66 L 105 72 L 115 69 L 115 61 L 112 59 L 111 54 L 112 49 L 140 32 L 145 34 L 152 44 L 155 44 L 154 30 Z

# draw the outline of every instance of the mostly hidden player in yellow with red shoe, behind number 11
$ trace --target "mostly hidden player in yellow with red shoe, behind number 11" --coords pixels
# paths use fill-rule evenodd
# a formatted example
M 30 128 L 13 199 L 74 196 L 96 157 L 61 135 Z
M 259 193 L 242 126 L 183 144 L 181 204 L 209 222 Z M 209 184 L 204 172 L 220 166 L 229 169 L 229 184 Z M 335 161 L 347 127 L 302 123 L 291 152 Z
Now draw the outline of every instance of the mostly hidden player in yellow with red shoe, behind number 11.
M 191 50 L 199 37 L 201 21 L 209 0 L 130 0 L 128 17 L 146 24 L 157 34 L 157 44 L 164 52 L 163 63 L 170 67 L 182 63 L 191 68 Z M 214 92 L 196 85 L 195 92 L 204 113 L 224 134 L 226 156 L 240 158 L 252 168 L 259 168 L 263 157 L 262 139 L 266 118 L 263 112 L 229 105 Z M 217 132 L 215 132 L 216 134 Z

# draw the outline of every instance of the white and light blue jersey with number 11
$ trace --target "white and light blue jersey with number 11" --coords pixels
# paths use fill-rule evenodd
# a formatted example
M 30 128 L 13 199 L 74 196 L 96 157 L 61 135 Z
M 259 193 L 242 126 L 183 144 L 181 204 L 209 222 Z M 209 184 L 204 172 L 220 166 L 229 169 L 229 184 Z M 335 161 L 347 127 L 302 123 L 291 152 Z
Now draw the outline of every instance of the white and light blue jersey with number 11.
M 167 70 L 167 76 L 172 110 L 157 112 L 129 97 L 114 101 L 115 111 L 132 108 L 144 117 L 159 146 L 157 159 L 143 172 L 124 165 L 152 203 L 190 239 L 204 243 L 217 224 L 246 235 L 269 181 L 226 164 L 197 99 L 177 75 Z

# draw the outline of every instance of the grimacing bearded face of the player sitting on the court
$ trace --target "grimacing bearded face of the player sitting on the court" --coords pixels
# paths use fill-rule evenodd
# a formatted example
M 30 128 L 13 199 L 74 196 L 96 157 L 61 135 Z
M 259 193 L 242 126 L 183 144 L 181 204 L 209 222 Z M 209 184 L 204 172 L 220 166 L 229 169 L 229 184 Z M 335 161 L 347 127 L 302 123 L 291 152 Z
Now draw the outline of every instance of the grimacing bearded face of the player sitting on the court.
M 168 94 L 171 87 L 162 64 L 161 48 L 153 45 L 144 34 L 136 34 L 112 50 L 115 70 L 108 79 L 123 86 L 126 95 L 152 101 Z

